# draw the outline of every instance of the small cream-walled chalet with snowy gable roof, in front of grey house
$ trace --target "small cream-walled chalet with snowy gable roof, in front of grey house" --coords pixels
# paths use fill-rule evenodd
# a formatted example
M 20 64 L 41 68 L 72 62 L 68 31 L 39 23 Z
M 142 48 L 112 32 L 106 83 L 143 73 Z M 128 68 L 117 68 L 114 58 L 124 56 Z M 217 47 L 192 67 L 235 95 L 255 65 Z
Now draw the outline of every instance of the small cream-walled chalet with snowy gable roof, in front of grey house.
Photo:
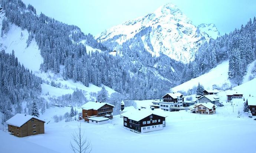
M 195 108 L 194 112 L 197 114 L 211 115 L 216 113 L 216 105 L 210 102 L 198 103 L 197 105 L 194 106 L 194 108 Z

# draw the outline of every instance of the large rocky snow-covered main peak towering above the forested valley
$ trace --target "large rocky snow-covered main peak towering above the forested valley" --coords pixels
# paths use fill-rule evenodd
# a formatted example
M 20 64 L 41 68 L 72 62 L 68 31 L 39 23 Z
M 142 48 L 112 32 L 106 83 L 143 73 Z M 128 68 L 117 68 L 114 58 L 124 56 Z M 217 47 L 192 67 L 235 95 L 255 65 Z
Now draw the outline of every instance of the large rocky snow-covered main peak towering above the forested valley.
M 163 53 L 183 63 L 193 61 L 200 45 L 209 40 L 208 35 L 202 34 L 177 6 L 170 3 L 145 17 L 105 30 L 97 40 L 122 45 L 135 37 L 140 37 L 144 48 L 152 55 Z

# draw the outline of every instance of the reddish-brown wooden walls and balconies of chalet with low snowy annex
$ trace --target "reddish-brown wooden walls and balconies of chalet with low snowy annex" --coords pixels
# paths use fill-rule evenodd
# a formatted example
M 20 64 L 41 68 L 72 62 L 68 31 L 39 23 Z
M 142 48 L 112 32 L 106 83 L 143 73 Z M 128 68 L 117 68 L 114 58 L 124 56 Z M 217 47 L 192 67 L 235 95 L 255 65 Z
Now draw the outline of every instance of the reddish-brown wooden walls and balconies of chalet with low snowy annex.
M 104 106 L 102 106 L 101 108 L 99 108 L 98 110 L 94 110 L 94 109 L 83 109 L 82 113 L 83 113 L 83 118 L 85 119 L 86 122 L 89 122 L 88 117 L 89 116 L 105 116 L 105 115 L 110 115 L 108 116 L 109 119 L 112 119 L 112 112 L 113 112 L 113 106 L 110 106 L 108 104 L 105 104 Z

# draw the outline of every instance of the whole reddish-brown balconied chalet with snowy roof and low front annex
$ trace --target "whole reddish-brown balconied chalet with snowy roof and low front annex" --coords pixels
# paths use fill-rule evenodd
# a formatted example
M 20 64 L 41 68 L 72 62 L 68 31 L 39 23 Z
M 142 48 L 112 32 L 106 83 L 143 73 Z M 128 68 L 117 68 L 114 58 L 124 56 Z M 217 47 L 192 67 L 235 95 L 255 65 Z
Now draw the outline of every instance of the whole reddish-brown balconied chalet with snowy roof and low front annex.
M 87 102 L 81 106 L 83 119 L 85 119 L 86 122 L 96 124 L 103 121 L 106 122 L 106 120 L 113 118 L 114 107 L 114 105 L 105 102 Z M 101 118 L 97 119 L 97 117 Z M 102 117 L 105 117 L 106 120 L 104 120 Z

